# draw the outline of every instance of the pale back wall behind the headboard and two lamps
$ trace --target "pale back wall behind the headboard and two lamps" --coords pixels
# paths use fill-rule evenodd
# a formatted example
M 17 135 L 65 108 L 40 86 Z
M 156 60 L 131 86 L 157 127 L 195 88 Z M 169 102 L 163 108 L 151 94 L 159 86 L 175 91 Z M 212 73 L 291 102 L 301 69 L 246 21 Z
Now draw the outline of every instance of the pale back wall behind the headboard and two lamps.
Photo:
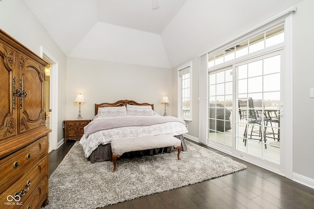
M 81 104 L 83 118 L 93 118 L 95 103 L 115 102 L 121 99 L 154 104 L 154 110 L 163 115 L 162 97 L 167 95 L 166 106 L 171 115 L 171 70 L 79 58 L 67 58 L 67 106 L 68 119 L 78 117 L 78 93 L 83 94 Z

